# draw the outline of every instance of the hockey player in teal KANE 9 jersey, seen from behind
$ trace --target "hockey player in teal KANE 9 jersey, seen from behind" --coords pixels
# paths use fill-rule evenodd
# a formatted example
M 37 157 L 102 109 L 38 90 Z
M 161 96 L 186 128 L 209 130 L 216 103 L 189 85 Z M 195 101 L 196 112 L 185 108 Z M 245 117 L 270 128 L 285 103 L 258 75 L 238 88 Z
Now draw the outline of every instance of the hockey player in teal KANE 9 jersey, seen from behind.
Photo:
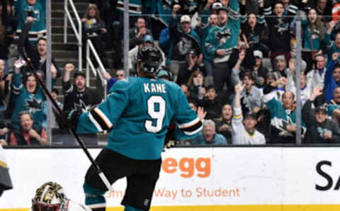
M 117 81 L 107 101 L 87 113 L 79 116 L 73 111 L 58 117 L 61 127 L 73 127 L 78 133 L 111 130 L 108 145 L 96 162 L 110 183 L 127 177 L 122 202 L 125 211 L 149 210 L 171 120 L 177 124 L 175 139 L 192 139 L 202 129 L 181 88 L 171 81 L 154 78 L 162 62 L 159 50 L 143 47 L 137 57 L 139 77 Z M 91 166 L 84 183 L 86 205 L 105 210 L 106 190 Z

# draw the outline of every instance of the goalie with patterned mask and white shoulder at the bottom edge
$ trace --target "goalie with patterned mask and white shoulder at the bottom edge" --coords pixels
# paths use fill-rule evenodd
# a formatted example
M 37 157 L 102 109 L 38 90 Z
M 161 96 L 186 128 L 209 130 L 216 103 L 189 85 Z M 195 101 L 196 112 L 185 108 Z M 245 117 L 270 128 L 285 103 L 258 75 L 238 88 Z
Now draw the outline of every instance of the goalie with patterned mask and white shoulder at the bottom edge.
M 55 182 L 44 183 L 35 191 L 30 211 L 91 211 L 85 205 L 80 205 L 66 198 L 60 184 Z

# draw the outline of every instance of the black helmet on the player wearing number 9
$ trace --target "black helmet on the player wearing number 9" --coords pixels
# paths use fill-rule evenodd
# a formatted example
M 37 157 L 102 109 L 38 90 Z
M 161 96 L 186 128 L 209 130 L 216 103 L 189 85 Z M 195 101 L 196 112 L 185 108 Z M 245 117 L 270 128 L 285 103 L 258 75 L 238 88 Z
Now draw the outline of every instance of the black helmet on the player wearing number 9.
M 140 71 L 156 74 L 162 64 L 162 54 L 157 47 L 142 47 L 137 55 Z

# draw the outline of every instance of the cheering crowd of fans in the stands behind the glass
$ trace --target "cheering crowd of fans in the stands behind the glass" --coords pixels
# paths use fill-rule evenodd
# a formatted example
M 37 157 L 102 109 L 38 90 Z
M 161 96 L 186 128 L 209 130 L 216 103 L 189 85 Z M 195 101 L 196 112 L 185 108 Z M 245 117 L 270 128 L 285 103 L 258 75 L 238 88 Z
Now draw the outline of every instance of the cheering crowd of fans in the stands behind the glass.
M 83 46 L 90 39 L 104 67 L 116 69 L 114 77 L 103 73 L 108 90 L 126 77 L 123 6 L 123 0 L 91 0 L 86 11 L 79 11 Z M 47 144 L 45 94 L 20 55 L 15 67 L 8 62 L 11 45 L 26 23 L 33 22 L 23 45 L 45 81 L 45 0 L 1 1 L 0 13 L 0 143 Z M 340 143 L 337 1 L 133 0 L 129 14 L 130 76 L 137 75 L 139 50 L 159 47 L 163 64 L 157 77 L 179 84 L 203 120 L 202 134 L 180 144 L 295 144 L 297 132 L 302 143 Z M 301 23 L 300 61 L 296 61 L 297 23 Z M 114 52 L 111 57 L 108 50 Z M 52 84 L 61 81 L 64 95 L 58 105 L 62 110 L 87 110 L 101 102 L 103 93 L 86 87 L 84 72 L 74 69 L 66 64 L 62 72 L 52 57 Z M 295 84 L 297 77 L 300 85 Z M 58 90 L 52 94 L 57 99 Z M 300 131 L 297 103 L 302 108 Z

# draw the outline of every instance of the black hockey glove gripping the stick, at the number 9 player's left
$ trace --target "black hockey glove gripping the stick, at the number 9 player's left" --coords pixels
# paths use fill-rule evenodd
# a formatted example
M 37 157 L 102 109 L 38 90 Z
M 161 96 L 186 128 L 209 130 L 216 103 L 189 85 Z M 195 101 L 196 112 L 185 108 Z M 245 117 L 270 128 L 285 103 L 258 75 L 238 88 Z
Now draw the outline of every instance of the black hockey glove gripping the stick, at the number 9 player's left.
M 83 113 L 80 109 L 64 111 L 57 115 L 57 123 L 61 130 L 77 130 L 78 118 Z

